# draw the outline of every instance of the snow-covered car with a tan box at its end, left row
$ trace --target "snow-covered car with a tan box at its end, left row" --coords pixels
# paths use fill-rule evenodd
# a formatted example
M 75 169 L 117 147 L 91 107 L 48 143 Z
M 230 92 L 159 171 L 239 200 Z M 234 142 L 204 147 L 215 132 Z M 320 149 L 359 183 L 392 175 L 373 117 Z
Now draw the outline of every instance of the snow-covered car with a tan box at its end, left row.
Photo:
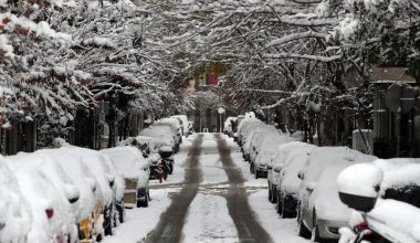
M 148 207 L 149 165 L 141 152 L 133 147 L 115 147 L 101 150 L 109 156 L 125 179 L 124 203 L 127 208 Z

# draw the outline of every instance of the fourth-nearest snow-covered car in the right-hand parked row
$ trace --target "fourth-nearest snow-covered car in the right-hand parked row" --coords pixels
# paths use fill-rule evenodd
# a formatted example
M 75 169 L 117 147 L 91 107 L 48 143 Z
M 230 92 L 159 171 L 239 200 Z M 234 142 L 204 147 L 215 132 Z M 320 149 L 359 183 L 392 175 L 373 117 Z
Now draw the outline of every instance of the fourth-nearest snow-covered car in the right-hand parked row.
M 279 145 L 293 141 L 292 137 L 281 135 L 280 131 L 264 133 L 256 141 L 254 154 L 251 154 L 251 171 L 258 178 L 266 178 L 269 171 L 269 162 L 276 152 Z

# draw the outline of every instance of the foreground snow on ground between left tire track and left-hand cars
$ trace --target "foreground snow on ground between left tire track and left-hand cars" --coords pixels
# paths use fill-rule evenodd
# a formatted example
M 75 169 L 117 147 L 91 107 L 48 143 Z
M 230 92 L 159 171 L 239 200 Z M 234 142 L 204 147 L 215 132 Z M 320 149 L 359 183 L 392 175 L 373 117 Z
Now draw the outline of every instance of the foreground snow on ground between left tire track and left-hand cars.
M 147 236 L 159 222 L 160 214 L 169 207 L 171 200 L 168 193 L 177 189 L 150 190 L 151 201 L 148 208 L 126 210 L 123 224 L 114 229 L 114 235 L 106 236 L 104 243 L 136 243 Z

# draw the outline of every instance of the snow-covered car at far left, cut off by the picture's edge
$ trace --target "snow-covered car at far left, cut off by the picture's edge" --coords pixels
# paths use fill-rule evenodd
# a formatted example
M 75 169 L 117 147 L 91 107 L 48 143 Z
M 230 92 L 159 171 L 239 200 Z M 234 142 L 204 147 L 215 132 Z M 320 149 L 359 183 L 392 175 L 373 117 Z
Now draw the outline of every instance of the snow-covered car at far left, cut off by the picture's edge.
M 0 157 L 0 242 L 25 242 L 32 213 L 4 157 Z

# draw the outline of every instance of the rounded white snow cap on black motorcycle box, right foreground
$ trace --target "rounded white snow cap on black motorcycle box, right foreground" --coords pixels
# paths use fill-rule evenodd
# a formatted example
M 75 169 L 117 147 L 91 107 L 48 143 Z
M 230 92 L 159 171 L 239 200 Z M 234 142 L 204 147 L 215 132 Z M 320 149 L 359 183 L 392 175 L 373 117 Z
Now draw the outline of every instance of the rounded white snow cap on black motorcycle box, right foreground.
M 376 198 L 382 178 L 384 172 L 377 166 L 359 163 L 343 170 L 337 182 L 340 192 Z

